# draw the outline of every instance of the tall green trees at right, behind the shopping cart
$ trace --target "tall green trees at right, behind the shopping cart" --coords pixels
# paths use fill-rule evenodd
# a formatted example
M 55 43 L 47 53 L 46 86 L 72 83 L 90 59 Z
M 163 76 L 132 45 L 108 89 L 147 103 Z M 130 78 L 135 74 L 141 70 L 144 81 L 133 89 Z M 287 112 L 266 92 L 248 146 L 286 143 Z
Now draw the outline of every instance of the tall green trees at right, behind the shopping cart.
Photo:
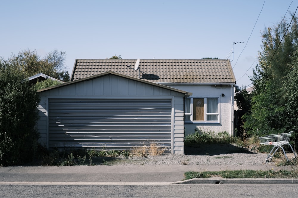
M 275 134 L 297 129 L 297 18 L 263 32 L 259 64 L 253 71 L 252 107 L 243 118 L 248 134 Z M 288 29 L 288 27 L 290 27 Z

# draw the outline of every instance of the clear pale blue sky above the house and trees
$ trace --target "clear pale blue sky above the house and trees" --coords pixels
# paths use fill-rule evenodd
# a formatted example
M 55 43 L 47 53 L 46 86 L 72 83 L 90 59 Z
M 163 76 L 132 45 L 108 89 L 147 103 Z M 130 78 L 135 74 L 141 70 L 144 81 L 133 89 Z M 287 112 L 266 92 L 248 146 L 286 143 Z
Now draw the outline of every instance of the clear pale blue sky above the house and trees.
M 237 84 L 247 86 L 251 82 L 246 74 L 252 75 L 257 64 L 254 61 L 260 50 L 261 32 L 280 23 L 284 15 L 290 19 L 289 12 L 295 12 L 298 0 L 266 0 L 260 14 L 263 3 L 2 1 L 0 56 L 7 59 L 12 53 L 30 49 L 44 57 L 52 50 L 62 50 L 71 74 L 76 58 L 109 58 L 115 54 L 124 59 L 232 60 L 232 42 L 245 42 L 234 45 L 231 64 Z

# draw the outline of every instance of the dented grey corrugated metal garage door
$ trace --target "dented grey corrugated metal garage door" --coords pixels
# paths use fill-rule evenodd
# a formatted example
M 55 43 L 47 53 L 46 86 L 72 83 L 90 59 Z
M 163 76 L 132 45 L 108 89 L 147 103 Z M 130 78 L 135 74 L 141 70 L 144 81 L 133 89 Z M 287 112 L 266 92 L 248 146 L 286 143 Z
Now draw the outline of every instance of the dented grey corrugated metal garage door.
M 171 151 L 171 99 L 49 99 L 49 147 Z

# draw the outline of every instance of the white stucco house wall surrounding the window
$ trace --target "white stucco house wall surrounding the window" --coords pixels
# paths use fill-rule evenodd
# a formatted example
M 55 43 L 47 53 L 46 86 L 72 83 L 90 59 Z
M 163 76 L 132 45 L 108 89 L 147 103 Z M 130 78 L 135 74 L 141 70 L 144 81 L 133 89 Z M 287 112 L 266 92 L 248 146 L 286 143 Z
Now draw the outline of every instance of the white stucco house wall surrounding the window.
M 192 92 L 190 97 L 218 97 L 220 102 L 220 123 L 184 123 L 184 135 L 195 133 L 195 128 L 203 132 L 228 132 L 234 135 L 234 87 L 233 85 L 177 85 L 167 84 L 169 87 Z M 222 97 L 221 95 L 225 96 Z

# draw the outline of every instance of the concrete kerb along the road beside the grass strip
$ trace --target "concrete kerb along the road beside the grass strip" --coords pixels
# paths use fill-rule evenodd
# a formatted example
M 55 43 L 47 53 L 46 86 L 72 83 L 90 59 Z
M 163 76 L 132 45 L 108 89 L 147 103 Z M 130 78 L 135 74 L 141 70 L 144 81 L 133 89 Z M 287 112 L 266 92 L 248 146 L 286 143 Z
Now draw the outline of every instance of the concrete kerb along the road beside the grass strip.
M 244 179 L 224 179 L 224 178 L 194 178 L 185 181 L 173 182 L 173 184 L 224 184 L 224 183 L 298 183 L 298 179 L 284 179 L 284 178 L 244 178 Z

